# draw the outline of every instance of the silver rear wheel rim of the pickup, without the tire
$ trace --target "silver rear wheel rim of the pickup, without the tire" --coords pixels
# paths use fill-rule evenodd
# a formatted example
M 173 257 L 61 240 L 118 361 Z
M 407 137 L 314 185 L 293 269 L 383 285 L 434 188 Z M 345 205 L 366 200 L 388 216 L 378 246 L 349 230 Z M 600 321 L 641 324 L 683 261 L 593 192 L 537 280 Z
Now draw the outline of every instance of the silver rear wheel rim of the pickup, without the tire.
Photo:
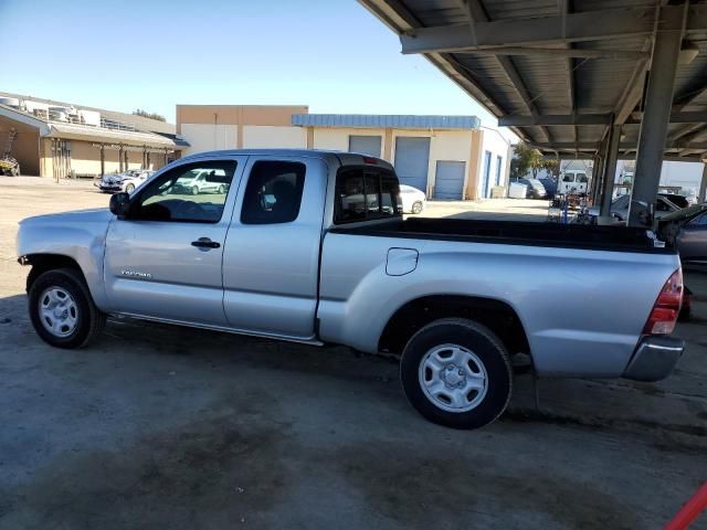
M 458 344 L 435 346 L 420 361 L 420 388 L 443 411 L 468 412 L 486 396 L 488 374 L 473 351 Z

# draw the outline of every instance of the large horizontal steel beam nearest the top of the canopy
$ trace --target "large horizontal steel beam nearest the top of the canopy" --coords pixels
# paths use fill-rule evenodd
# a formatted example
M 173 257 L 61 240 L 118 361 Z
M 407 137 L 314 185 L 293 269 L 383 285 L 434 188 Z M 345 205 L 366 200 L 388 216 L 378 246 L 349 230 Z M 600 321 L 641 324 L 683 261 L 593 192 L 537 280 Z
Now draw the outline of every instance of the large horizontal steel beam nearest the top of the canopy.
M 471 0 L 469 4 L 475 0 Z M 564 19 L 564 20 L 563 20 Z M 566 44 L 567 42 L 620 39 L 651 34 L 655 8 L 603 9 L 561 15 L 509 19 L 489 22 L 474 17 L 468 24 L 421 28 L 402 34 L 402 53 L 463 52 L 487 46 Z M 661 9 L 662 31 L 683 31 L 683 7 Z M 689 8 L 687 30 L 707 29 L 707 6 Z

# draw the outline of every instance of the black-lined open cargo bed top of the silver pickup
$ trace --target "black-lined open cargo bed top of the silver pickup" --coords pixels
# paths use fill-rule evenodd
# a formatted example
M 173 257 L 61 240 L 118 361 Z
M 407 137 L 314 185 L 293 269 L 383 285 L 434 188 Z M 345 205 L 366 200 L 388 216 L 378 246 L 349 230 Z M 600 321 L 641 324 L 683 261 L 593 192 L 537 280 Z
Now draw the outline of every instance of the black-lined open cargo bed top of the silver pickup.
M 654 246 L 654 241 L 645 229 L 625 226 L 413 218 L 377 225 L 337 227 L 331 232 L 382 237 L 675 254 L 671 248 Z

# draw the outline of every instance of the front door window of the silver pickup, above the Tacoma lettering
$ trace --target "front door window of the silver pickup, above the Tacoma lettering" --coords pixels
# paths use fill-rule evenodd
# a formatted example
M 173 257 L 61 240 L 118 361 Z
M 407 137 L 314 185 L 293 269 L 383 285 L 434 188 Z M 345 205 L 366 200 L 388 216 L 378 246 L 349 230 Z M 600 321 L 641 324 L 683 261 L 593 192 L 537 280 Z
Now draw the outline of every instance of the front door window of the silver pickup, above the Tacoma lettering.
M 128 218 L 138 221 L 175 221 L 182 223 L 218 223 L 228 193 L 201 193 L 194 177 L 229 188 L 233 180 L 234 160 L 207 161 L 179 166 L 145 184 L 130 204 Z M 207 178 L 205 174 L 209 174 Z

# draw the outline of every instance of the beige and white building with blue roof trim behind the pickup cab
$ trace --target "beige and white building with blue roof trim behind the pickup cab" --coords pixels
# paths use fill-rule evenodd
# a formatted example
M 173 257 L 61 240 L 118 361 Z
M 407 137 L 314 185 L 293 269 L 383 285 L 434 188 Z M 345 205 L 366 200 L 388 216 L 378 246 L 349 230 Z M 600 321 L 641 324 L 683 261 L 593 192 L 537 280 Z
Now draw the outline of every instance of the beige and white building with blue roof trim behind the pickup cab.
M 492 197 L 506 187 L 509 144 L 474 116 L 309 114 L 306 106 L 178 105 L 184 155 L 235 148 L 357 151 L 395 167 L 436 199 Z

